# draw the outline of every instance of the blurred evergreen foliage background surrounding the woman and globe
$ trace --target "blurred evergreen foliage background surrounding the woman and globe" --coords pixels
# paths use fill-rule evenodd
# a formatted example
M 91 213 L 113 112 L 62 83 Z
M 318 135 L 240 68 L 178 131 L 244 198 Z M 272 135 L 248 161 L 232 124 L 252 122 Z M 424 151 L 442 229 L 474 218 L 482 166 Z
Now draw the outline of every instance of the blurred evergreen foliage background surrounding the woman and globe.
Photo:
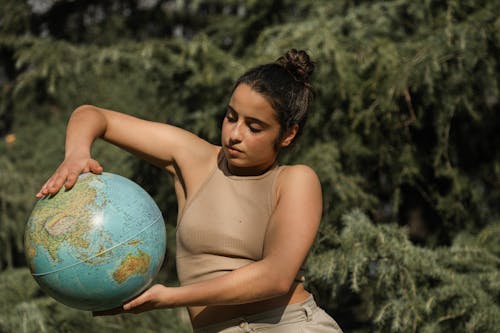
M 0 0 L 0 332 L 190 332 L 183 309 L 92 318 L 26 267 L 35 193 L 81 104 L 213 143 L 234 81 L 290 48 L 317 61 L 306 131 L 284 163 L 320 176 L 307 287 L 345 332 L 498 332 L 500 3 Z M 166 218 L 169 177 L 104 142 L 94 157 Z

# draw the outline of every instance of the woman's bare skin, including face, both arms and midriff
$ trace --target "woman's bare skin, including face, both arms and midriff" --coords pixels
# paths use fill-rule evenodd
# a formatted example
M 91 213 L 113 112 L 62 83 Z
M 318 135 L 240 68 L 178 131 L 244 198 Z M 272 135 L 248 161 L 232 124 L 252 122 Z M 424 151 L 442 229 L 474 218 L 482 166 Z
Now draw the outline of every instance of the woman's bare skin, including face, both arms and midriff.
M 293 141 L 297 129 L 294 126 L 288 131 L 280 147 Z M 226 155 L 229 170 L 235 175 L 258 175 L 271 168 L 278 156 L 275 142 L 279 130 L 271 105 L 245 84 L 235 89 L 228 103 L 221 146 L 168 124 L 81 106 L 68 122 L 65 159 L 37 197 L 55 194 L 62 186 L 71 188 L 81 172 L 101 173 L 103 169 L 92 159 L 90 148 L 94 140 L 103 138 L 169 172 L 182 212 L 216 165 L 219 153 Z M 200 327 L 305 300 L 309 293 L 294 278 L 320 223 L 318 177 L 305 165 L 288 166 L 277 179 L 276 198 L 261 260 L 187 286 L 156 284 L 123 307 L 94 315 L 187 306 L 193 326 Z

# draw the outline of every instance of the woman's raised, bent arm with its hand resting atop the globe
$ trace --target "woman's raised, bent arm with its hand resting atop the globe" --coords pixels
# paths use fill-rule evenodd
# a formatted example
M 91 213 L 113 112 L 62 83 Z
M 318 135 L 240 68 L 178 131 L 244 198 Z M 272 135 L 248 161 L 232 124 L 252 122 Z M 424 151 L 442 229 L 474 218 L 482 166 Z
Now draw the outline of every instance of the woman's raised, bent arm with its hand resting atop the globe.
M 37 197 L 55 194 L 63 185 L 71 188 L 82 172 L 102 172 L 102 167 L 90 154 L 97 138 L 103 138 L 172 174 L 181 170 L 188 183 L 192 183 L 191 178 L 198 174 L 196 166 L 203 165 L 198 162 L 206 163 L 214 150 L 208 142 L 175 126 L 83 105 L 75 109 L 68 121 L 64 161 L 42 186 Z

